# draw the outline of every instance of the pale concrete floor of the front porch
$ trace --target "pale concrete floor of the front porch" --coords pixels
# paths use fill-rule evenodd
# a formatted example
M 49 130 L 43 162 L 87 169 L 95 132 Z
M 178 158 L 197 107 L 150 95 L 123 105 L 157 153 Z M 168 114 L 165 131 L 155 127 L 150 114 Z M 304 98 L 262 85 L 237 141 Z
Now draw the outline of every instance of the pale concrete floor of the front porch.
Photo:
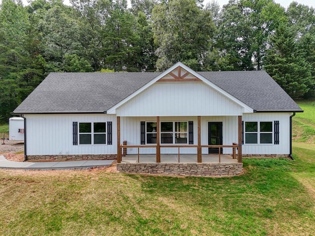
M 180 163 L 196 163 L 197 154 L 181 154 Z M 122 156 L 122 163 L 138 163 L 138 155 Z M 139 163 L 156 163 L 155 154 L 140 154 Z M 178 154 L 161 154 L 161 163 L 178 163 Z M 202 163 L 219 163 L 218 154 L 203 154 Z M 237 163 L 231 155 L 221 154 L 221 163 Z

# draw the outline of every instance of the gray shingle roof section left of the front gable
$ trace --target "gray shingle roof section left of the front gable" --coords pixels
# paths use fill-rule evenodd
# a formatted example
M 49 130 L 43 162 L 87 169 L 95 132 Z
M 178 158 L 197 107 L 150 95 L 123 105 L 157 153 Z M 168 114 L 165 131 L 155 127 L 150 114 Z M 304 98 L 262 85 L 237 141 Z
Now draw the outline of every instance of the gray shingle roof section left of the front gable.
M 50 73 L 14 113 L 104 112 L 160 73 Z

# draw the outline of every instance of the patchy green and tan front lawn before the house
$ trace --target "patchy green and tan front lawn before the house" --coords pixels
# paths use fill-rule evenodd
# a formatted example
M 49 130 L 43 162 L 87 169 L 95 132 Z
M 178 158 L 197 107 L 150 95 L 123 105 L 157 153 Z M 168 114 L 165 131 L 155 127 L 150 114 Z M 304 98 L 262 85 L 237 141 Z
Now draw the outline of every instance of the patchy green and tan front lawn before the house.
M 237 177 L 0 170 L 0 235 L 314 235 L 315 146 Z

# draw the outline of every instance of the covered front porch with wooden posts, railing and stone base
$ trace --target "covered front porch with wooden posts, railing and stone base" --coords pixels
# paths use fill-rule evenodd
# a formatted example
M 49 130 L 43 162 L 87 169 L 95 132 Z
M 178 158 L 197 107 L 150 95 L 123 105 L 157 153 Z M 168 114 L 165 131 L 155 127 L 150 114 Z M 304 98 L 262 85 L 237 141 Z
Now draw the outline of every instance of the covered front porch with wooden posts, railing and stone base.
M 156 126 L 154 131 L 154 142 L 148 142 L 148 137 L 151 137 L 150 135 L 153 132 L 146 132 L 146 125 L 141 125 L 141 142 L 128 139 L 126 135 L 123 136 L 123 140 L 127 141 L 121 142 L 121 131 L 124 132 L 126 128 L 132 126 L 124 126 L 124 128 L 121 129 L 121 120 L 120 117 L 117 117 L 118 171 L 126 173 L 147 173 L 163 175 L 175 174 L 185 176 L 234 176 L 242 173 L 242 116 L 234 116 L 233 122 L 237 125 L 234 126 L 236 127 L 236 129 L 232 128 L 233 138 L 228 139 L 230 140 L 228 141 L 230 145 L 222 145 L 221 142 L 220 145 L 219 143 L 216 143 L 215 145 L 206 145 L 206 142 L 208 143 L 209 141 L 210 143 L 210 137 L 212 138 L 212 136 L 209 135 L 209 130 L 209 132 L 203 132 L 203 135 L 205 137 L 202 139 L 201 130 L 207 130 L 205 129 L 205 126 L 207 124 L 214 123 L 208 122 L 207 120 L 209 118 L 205 118 L 203 120 L 202 126 L 201 116 L 196 117 L 194 122 L 196 124 L 195 130 L 197 132 L 195 132 L 194 134 L 193 121 L 184 121 L 183 123 L 186 123 L 183 132 L 185 133 L 185 136 L 182 139 L 185 142 L 181 142 L 181 137 L 179 139 L 176 139 L 176 131 L 170 135 L 170 137 L 172 137 L 172 142 L 169 142 L 169 140 L 165 140 L 165 133 L 170 133 L 171 131 L 176 130 L 176 127 L 173 126 L 173 128 L 170 128 L 171 131 L 165 132 L 165 129 L 163 127 L 160 127 L 160 125 L 163 125 L 165 123 L 172 123 L 172 121 L 167 121 L 171 118 L 166 118 L 167 120 L 165 118 L 162 118 L 166 121 L 160 121 L 160 117 L 156 117 L 155 119 Z M 173 119 L 173 125 L 178 125 L 180 123 L 176 121 L 178 118 Z M 193 118 L 189 119 L 193 120 Z M 153 119 L 150 118 L 150 120 Z M 138 120 L 138 122 L 139 121 L 141 120 Z M 144 121 L 139 123 L 145 124 Z M 150 124 L 152 123 L 153 122 L 151 121 Z M 222 127 L 222 122 L 216 123 L 220 123 Z M 228 130 L 228 127 L 233 126 L 226 125 L 225 129 Z M 140 127 L 138 127 L 136 130 L 140 130 Z M 162 136 L 163 134 L 164 136 Z M 220 130 L 220 135 L 218 135 L 220 136 L 220 140 L 222 141 L 221 134 L 222 128 Z M 127 145 L 127 143 L 130 142 L 129 140 L 131 140 L 131 145 Z M 238 143 L 232 143 L 232 140 L 235 140 Z M 141 144 L 139 145 L 139 143 Z M 225 141 L 224 143 L 227 142 Z M 127 150 L 131 153 L 127 153 Z

